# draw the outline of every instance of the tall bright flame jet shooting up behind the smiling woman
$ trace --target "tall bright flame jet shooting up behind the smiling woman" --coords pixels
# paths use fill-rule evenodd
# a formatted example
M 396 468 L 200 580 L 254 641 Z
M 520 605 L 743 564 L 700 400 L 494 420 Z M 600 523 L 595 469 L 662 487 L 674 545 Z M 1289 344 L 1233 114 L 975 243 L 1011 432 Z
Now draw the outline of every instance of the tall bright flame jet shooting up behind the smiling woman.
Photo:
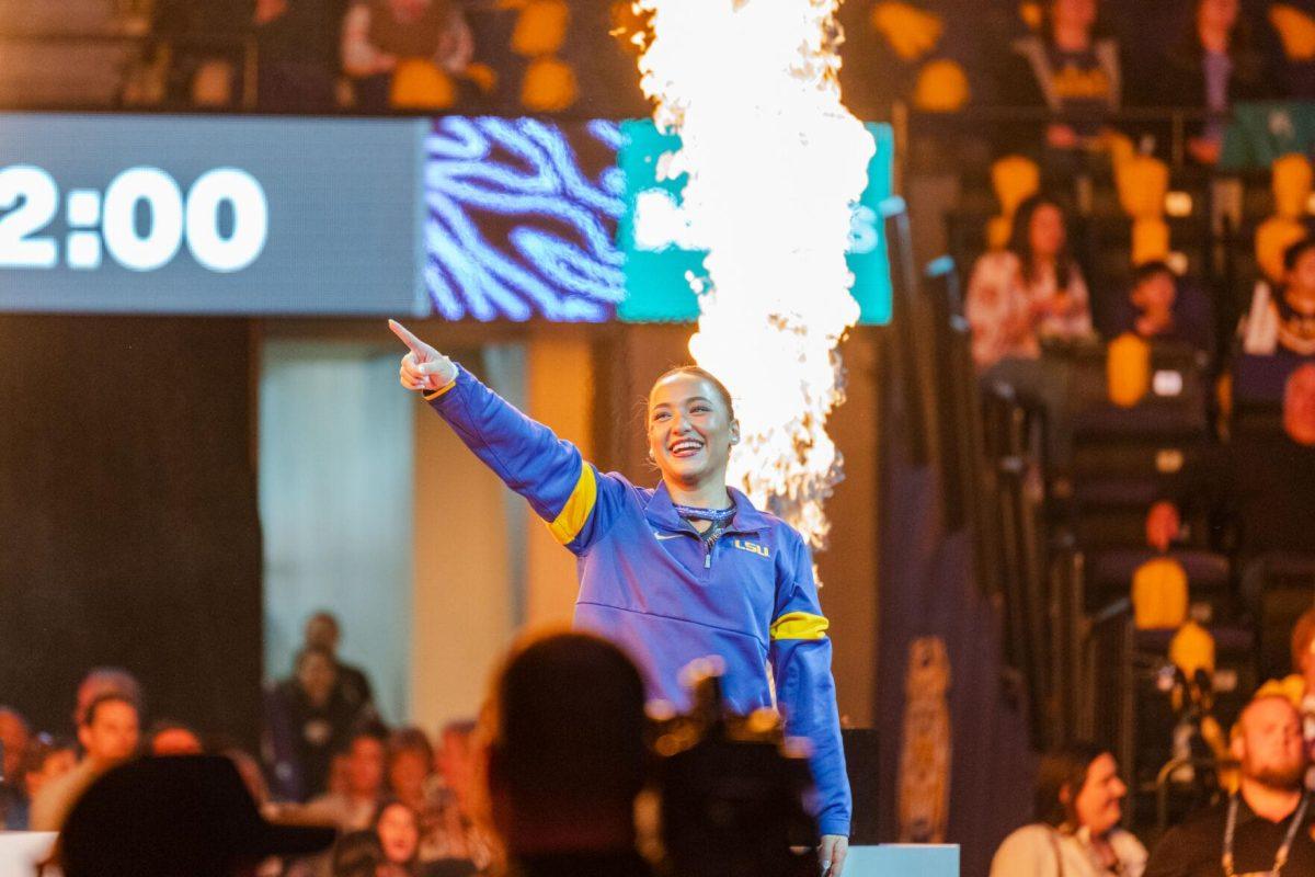
M 844 400 L 836 346 L 859 320 L 846 264 L 872 135 L 840 101 L 839 0 L 635 0 L 640 84 L 681 147 L 690 238 L 709 250 L 694 360 L 735 397 L 730 477 L 826 546 L 842 477 L 826 433 Z

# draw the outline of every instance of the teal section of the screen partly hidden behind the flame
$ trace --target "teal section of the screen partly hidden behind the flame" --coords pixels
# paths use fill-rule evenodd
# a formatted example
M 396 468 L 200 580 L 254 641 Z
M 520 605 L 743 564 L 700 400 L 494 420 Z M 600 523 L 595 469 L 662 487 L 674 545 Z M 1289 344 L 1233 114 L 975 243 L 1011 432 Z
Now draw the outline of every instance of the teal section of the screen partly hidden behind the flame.
M 848 262 L 861 323 L 890 322 L 890 260 L 877 205 L 893 195 L 894 133 L 889 125 L 865 124 L 876 142 L 868 164 L 868 188 L 853 206 Z M 680 208 L 684 180 L 658 180 L 658 163 L 680 147 L 651 121 L 621 124 L 617 163 L 625 178 L 625 210 L 618 220 L 626 296 L 617 305 L 623 322 L 693 322 L 698 298 L 689 275 L 702 276 L 705 251 L 689 241 Z M 764 187 L 772 180 L 764 179 Z M 790 205 L 782 200 L 781 210 Z M 643 222 L 636 222 L 636 217 Z

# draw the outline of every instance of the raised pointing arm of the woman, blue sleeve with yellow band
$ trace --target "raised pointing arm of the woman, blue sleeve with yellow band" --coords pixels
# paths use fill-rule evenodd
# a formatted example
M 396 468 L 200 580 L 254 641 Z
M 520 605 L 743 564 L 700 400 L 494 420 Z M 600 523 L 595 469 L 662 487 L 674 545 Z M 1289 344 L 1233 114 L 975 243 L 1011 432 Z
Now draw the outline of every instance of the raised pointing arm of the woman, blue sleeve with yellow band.
M 606 529 L 622 485 L 600 476 L 573 444 L 518 412 L 405 326 L 388 325 L 409 348 L 398 369 L 402 387 L 422 392 L 458 438 L 530 502 L 558 542 L 584 552 Z

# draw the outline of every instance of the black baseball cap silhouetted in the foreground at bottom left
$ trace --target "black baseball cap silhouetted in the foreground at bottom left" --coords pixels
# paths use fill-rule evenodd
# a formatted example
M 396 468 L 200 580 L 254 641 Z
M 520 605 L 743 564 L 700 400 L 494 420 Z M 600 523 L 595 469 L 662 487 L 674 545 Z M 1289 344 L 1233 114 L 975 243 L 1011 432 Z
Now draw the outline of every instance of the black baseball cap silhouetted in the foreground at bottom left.
M 333 828 L 268 822 L 222 756 L 145 757 L 79 798 L 59 835 L 64 877 L 227 876 L 245 863 L 327 848 Z

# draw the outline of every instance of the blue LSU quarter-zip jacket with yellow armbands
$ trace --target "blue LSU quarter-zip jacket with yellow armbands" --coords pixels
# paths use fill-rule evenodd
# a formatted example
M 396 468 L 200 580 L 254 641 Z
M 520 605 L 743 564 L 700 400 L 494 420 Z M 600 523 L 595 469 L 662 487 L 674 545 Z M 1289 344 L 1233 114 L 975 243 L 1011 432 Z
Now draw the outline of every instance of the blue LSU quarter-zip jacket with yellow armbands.
M 705 550 L 664 484 L 652 490 L 600 473 L 573 444 L 466 369 L 426 398 L 576 555 L 576 626 L 619 643 L 639 664 L 650 697 L 677 710 L 689 706 L 680 671 L 719 655 L 731 709 L 775 706 L 786 734 L 810 742 L 819 828 L 848 835 L 831 640 L 803 538 L 732 488 L 735 517 Z

